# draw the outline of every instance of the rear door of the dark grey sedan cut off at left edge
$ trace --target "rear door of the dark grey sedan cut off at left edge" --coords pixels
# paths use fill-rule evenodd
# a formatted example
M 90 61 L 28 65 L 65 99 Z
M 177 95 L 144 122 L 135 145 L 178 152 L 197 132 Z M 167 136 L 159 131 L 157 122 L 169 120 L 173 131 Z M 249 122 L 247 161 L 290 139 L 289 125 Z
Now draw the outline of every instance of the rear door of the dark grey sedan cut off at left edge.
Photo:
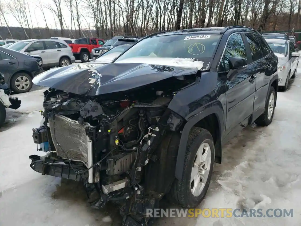
M 17 69 L 18 60 L 12 55 L 0 51 L 0 72 L 4 75 L 5 83 L 8 83 L 8 79 L 17 71 Z

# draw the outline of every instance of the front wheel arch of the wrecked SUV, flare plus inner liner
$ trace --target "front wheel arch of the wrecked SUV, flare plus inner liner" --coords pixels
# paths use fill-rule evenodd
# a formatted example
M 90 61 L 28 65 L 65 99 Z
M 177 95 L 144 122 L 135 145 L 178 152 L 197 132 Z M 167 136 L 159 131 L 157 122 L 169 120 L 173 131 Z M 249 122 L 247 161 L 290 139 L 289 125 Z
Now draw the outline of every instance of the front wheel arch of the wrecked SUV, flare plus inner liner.
M 215 162 L 221 163 L 224 111 L 220 102 L 210 105 L 203 106 L 203 110 L 188 120 L 183 127 L 175 167 L 175 177 L 178 180 L 182 179 L 187 141 L 192 127 L 202 127 L 212 134 L 215 143 Z

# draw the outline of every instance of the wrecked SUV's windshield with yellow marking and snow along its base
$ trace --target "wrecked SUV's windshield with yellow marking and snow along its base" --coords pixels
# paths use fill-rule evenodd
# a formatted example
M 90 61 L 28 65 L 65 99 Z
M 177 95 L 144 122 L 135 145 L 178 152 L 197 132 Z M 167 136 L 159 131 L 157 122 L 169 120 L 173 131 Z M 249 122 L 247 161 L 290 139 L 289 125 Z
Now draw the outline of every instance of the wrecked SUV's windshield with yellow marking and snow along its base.
M 166 66 L 179 67 L 184 66 L 184 63 L 185 66 L 189 66 L 189 64 L 195 65 L 196 62 L 208 62 L 213 56 L 220 37 L 221 35 L 218 34 L 151 37 L 137 42 L 114 62 L 161 63 Z

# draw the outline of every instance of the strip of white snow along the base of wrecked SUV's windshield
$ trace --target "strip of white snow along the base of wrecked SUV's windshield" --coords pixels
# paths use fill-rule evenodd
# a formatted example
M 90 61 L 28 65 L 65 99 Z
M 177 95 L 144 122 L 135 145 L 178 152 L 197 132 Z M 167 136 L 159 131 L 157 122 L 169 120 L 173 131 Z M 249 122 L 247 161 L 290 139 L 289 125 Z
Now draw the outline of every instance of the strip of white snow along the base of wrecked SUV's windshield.
M 203 68 L 203 61 L 198 61 L 194 58 L 165 58 L 165 57 L 132 57 L 127 58 L 116 63 L 142 63 L 142 64 L 156 64 L 170 67 L 185 67 L 185 68 L 197 68 L 201 70 Z

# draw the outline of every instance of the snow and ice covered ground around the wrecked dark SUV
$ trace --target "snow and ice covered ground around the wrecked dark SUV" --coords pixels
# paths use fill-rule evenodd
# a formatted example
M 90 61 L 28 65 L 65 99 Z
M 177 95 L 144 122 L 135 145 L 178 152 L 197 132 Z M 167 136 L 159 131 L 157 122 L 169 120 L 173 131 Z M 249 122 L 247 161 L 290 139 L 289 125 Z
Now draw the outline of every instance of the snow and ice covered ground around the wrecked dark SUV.
M 301 64 L 298 72 L 289 89 L 278 93 L 272 124 L 247 127 L 224 146 L 223 162 L 214 166 L 209 191 L 200 204 L 202 209 L 294 209 L 293 218 L 160 218 L 156 225 L 300 225 Z M 8 109 L 0 129 L 0 225 L 119 226 L 118 209 L 90 208 L 81 184 L 42 176 L 29 167 L 29 155 L 43 154 L 35 151 L 32 128 L 42 119 L 44 90 L 16 95 L 21 107 Z

